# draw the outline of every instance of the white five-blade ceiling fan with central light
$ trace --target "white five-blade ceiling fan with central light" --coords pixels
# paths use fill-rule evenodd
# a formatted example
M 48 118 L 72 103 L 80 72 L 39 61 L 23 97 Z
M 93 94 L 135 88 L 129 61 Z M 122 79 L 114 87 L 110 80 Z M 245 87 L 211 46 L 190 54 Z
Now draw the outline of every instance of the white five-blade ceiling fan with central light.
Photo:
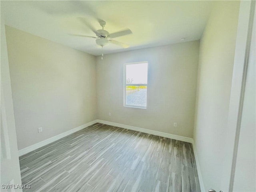
M 82 20 L 82 18 L 80 18 Z M 100 26 L 102 26 L 102 29 L 99 30 L 95 30 L 90 24 L 88 24 L 86 21 L 82 20 L 84 22 L 84 24 L 86 24 L 86 26 L 88 26 L 95 34 L 95 36 L 87 36 L 87 35 L 79 35 L 79 34 L 70 34 L 73 36 L 81 36 L 81 37 L 89 37 L 89 38 L 96 38 L 96 44 L 99 46 L 106 46 L 108 45 L 108 43 L 113 43 L 116 44 L 118 46 L 121 46 L 123 48 L 128 48 L 129 45 L 118 42 L 113 40 L 112 38 L 116 38 L 116 37 L 120 37 L 120 36 L 124 36 L 124 35 L 128 35 L 128 34 L 132 34 L 132 31 L 130 29 L 126 29 L 126 30 L 122 30 L 119 32 L 115 32 L 110 34 L 108 31 L 104 30 L 104 27 L 106 26 L 106 22 L 105 21 L 99 21 Z

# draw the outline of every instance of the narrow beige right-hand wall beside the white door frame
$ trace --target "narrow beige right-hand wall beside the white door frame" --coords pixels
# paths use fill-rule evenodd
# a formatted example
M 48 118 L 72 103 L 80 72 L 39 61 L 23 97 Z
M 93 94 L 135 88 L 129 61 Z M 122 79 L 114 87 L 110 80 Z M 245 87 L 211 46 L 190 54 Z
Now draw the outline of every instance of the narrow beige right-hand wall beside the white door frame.
M 200 40 L 194 142 L 208 191 L 222 190 L 239 1 L 218 1 Z

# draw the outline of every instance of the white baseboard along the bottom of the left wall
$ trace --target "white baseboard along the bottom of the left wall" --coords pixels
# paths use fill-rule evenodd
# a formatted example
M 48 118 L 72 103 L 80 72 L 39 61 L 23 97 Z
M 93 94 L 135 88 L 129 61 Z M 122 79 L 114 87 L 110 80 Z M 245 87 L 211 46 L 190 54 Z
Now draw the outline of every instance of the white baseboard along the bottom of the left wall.
M 77 132 L 77 131 L 79 131 L 79 130 L 81 130 L 81 129 L 83 129 L 83 128 L 86 128 L 86 127 L 88 127 L 88 126 L 91 126 L 91 125 L 93 125 L 93 124 L 95 124 L 95 123 L 97 123 L 97 120 L 88 122 L 88 123 L 86 123 L 86 124 L 84 124 L 84 125 L 81 125 L 81 126 L 79 126 L 79 127 L 76 127 L 76 128 L 74 128 L 74 129 L 71 129 L 71 130 L 69 130 L 69 131 L 66 131 L 66 132 L 64 132 L 64 133 L 58 134 L 58 135 L 56 135 L 56 136 L 54 136 L 54 137 L 51 137 L 51 138 L 49 138 L 49 139 L 46 139 L 46 140 L 41 141 L 41 142 L 39 142 L 39 143 L 36 143 L 36 144 L 34 144 L 34 145 L 31 145 L 31 146 L 28 146 L 28 147 L 26 147 L 26 148 L 23 148 L 23 149 L 19 150 L 19 156 L 22 156 L 22 155 L 24 155 L 24 154 L 26 154 L 26 153 L 28 153 L 28 152 L 34 151 L 34 150 L 36 150 L 36 149 L 38 149 L 38 148 L 40 148 L 40 147 L 42 147 L 42 146 L 45 146 L 45 145 L 47 145 L 47 144 L 50 144 L 50 143 L 52 143 L 52 142 L 54 142 L 54 141 L 56 141 L 56 140 L 58 140 L 58 139 L 61 139 L 61 138 L 65 137 L 65 136 L 68 136 L 68 135 L 70 135 L 70 134 L 72 134 L 72 133 L 74 133 L 74 132 Z

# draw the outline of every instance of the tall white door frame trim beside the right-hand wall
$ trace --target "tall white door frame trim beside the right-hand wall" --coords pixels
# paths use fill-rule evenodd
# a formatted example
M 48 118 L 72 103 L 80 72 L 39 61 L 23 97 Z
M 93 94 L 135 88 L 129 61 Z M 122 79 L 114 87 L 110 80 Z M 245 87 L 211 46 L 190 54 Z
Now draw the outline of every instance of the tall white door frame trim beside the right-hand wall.
M 221 189 L 233 191 L 255 1 L 240 1 Z

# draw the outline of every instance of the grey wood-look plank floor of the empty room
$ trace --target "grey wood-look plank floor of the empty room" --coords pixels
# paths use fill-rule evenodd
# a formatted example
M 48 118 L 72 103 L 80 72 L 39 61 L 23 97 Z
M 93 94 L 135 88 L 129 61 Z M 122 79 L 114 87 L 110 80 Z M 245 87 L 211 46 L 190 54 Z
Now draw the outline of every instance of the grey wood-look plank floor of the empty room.
M 20 157 L 24 191 L 200 191 L 192 145 L 94 124 Z

